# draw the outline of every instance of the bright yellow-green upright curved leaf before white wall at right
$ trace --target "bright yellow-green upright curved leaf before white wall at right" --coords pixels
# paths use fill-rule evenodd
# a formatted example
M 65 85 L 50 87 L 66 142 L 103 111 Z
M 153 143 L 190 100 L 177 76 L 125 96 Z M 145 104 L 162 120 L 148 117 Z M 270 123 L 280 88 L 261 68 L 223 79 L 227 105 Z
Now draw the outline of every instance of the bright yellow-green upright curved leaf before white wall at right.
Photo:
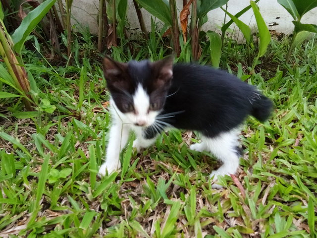
M 258 29 L 259 29 L 259 38 L 260 38 L 260 50 L 258 54 L 258 58 L 262 57 L 266 52 L 266 48 L 268 43 L 271 40 L 271 35 L 269 34 L 268 28 L 264 22 L 264 19 L 259 11 L 259 7 L 254 1 L 250 1 L 252 6 L 254 16 L 256 17 Z

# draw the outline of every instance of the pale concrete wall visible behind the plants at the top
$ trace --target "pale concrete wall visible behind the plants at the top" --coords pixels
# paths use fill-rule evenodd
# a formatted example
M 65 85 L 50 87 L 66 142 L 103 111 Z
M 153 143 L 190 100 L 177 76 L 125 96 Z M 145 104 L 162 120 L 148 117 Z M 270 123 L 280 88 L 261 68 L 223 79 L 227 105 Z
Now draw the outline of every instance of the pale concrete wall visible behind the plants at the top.
M 304 0 L 303 0 L 304 1 Z M 135 13 L 132 0 L 129 0 L 128 6 L 128 21 L 132 29 L 140 28 L 137 15 Z M 177 0 L 178 9 L 181 10 L 182 0 Z M 250 4 L 249 0 L 229 0 L 228 12 L 236 14 L 244 7 Z M 292 23 L 293 18 L 291 15 L 280 5 L 277 0 L 260 0 L 259 1 L 260 12 L 266 22 L 269 30 L 275 30 L 284 34 L 290 34 L 293 31 L 294 25 Z M 74 18 L 83 26 L 89 26 L 91 32 L 96 34 L 98 32 L 98 8 L 99 0 L 74 0 L 72 13 Z M 151 15 L 144 9 L 142 9 L 145 24 L 147 29 L 151 29 Z M 219 8 L 212 10 L 208 13 L 209 21 L 203 26 L 204 30 L 220 31 L 220 27 L 223 24 L 224 12 Z M 251 28 L 256 28 L 256 20 L 253 15 L 252 9 L 244 13 L 240 18 L 244 23 Z M 230 18 L 227 16 L 226 21 Z M 317 8 L 306 13 L 302 19 L 303 23 L 317 24 Z M 76 21 L 73 21 L 75 24 Z M 231 29 L 236 29 L 232 24 Z M 236 32 L 239 34 L 238 30 Z

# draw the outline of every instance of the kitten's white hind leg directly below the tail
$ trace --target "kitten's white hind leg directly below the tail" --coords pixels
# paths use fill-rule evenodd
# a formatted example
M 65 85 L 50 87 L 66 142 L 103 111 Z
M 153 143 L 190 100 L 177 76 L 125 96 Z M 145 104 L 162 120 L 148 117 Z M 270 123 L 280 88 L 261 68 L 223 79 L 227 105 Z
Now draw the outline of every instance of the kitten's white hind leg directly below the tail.
M 235 174 L 239 167 L 240 151 L 238 150 L 238 130 L 233 129 L 228 132 L 222 132 L 212 138 L 203 136 L 202 141 L 222 165 L 216 171 L 213 171 L 210 178 L 217 180 L 218 176 Z M 213 188 L 221 188 L 218 184 L 213 184 Z

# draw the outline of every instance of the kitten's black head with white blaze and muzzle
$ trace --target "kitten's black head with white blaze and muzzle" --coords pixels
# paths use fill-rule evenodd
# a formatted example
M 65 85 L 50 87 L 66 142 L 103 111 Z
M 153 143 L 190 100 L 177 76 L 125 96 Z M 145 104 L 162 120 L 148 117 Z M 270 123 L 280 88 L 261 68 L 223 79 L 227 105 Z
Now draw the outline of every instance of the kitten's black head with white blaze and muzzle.
M 173 57 L 117 62 L 104 59 L 107 88 L 125 122 L 150 126 L 163 109 L 173 76 Z

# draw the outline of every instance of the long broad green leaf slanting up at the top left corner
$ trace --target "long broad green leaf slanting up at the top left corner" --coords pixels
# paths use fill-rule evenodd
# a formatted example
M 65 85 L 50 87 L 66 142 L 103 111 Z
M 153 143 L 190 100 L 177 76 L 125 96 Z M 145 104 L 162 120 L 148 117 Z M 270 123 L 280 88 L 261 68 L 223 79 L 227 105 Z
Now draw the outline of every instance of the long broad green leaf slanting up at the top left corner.
M 34 10 L 30 11 L 26 17 L 22 20 L 20 26 L 13 33 L 12 41 L 14 43 L 14 49 L 20 53 L 26 38 L 30 35 L 36 25 L 42 20 L 42 18 L 48 13 L 56 0 L 46 0 L 41 3 Z

